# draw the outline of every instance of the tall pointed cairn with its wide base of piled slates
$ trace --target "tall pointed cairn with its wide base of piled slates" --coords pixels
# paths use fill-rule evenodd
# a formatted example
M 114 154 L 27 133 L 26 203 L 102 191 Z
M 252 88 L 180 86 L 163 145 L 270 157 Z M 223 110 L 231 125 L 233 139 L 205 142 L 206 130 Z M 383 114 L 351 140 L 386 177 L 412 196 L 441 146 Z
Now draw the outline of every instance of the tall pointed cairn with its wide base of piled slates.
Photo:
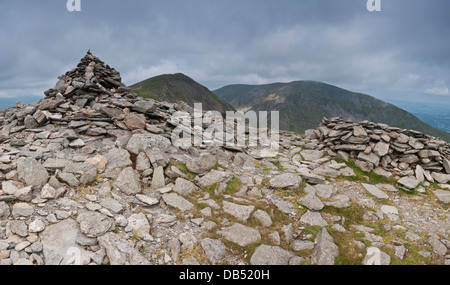
M 25 145 L 22 131 L 48 138 L 58 125 L 60 137 L 71 147 L 83 147 L 81 135 L 116 136 L 120 131 L 147 130 L 169 137 L 175 111 L 189 111 L 183 102 L 156 102 L 137 96 L 121 83 L 120 74 L 90 52 L 76 68 L 59 77 L 56 86 L 45 91 L 37 103 L 18 103 L 0 113 L 0 142 Z M 50 128 L 50 127 L 48 127 Z

